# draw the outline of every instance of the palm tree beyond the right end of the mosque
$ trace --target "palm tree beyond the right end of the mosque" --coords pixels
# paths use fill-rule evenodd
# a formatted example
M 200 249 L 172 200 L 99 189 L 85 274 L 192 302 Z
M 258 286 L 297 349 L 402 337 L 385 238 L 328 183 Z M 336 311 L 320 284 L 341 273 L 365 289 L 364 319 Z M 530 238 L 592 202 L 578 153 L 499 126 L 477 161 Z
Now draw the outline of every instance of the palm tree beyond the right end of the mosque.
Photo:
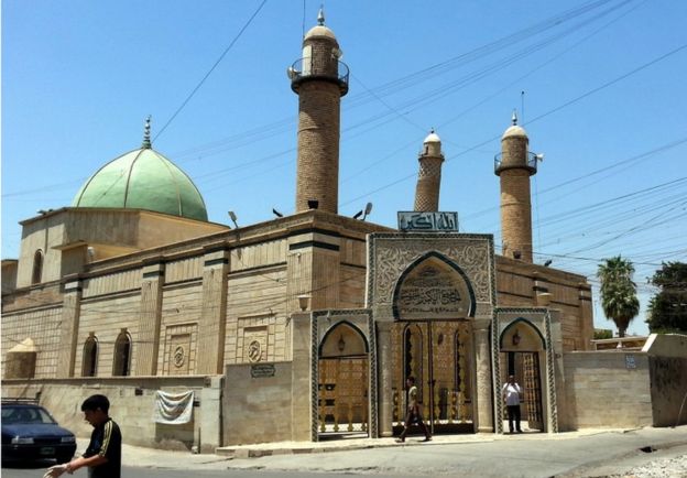
M 597 271 L 601 281 L 601 307 L 606 316 L 615 323 L 620 337 L 625 336 L 630 322 L 640 313 L 640 301 L 632 274 L 632 261 L 620 256 L 604 259 Z

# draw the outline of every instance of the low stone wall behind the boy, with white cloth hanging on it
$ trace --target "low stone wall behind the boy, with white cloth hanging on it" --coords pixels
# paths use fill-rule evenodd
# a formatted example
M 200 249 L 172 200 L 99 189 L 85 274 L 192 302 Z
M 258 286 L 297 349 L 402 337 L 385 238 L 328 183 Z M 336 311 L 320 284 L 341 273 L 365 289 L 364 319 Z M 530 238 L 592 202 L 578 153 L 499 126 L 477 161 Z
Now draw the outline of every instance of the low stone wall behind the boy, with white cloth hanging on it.
M 193 419 L 183 425 L 152 421 L 155 391 L 194 390 L 197 406 Z M 222 378 L 214 377 L 135 377 L 65 380 L 3 380 L 2 400 L 39 399 L 57 422 L 79 438 L 88 438 L 91 427 L 84 421 L 80 405 L 92 394 L 110 400 L 110 416 L 122 432 L 123 443 L 150 448 L 214 453 L 221 444 Z M 78 450 L 83 452 L 83 450 Z

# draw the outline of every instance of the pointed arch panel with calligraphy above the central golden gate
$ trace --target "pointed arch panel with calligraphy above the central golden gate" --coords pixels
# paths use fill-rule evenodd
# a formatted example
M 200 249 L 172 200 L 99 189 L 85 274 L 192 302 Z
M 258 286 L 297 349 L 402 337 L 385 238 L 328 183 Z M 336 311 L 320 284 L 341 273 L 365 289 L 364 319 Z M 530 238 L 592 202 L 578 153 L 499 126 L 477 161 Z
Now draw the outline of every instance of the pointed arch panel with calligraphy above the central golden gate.
M 432 264 L 438 268 L 433 269 Z M 450 276 L 441 274 L 445 271 L 449 271 Z M 414 303 L 414 294 L 436 298 L 439 304 L 433 311 L 432 304 L 427 306 L 426 303 Z M 475 317 L 475 290 L 468 275 L 457 263 L 437 251 L 429 251 L 410 263 L 394 286 L 395 321 L 426 319 L 429 318 L 428 315 L 434 318 L 467 318 Z

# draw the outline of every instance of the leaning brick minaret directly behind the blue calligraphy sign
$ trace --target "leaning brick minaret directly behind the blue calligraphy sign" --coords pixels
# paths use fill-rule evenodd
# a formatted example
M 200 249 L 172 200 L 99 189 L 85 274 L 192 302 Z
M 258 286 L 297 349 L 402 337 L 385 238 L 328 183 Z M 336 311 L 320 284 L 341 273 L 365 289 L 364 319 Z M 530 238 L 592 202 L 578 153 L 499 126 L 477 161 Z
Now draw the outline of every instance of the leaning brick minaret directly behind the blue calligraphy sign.
M 423 151 L 417 159 L 419 172 L 417 173 L 417 186 L 415 188 L 415 210 L 439 210 L 439 188 L 441 187 L 441 140 L 432 130 L 425 138 Z

